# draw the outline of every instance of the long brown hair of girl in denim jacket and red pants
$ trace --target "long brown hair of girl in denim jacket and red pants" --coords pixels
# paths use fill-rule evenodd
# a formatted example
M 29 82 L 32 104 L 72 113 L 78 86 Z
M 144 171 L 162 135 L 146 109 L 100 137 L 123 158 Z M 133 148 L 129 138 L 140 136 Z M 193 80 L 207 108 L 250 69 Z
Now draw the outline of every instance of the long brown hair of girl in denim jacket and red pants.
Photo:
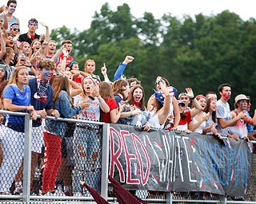
M 61 91 L 67 92 L 67 95 L 69 96 L 69 98 L 71 98 L 70 81 L 68 80 L 67 77 L 62 77 L 62 76 L 53 77 L 52 80 L 50 81 L 50 84 L 54 89 L 54 96 L 53 96 L 54 103 L 58 98 L 59 92 Z

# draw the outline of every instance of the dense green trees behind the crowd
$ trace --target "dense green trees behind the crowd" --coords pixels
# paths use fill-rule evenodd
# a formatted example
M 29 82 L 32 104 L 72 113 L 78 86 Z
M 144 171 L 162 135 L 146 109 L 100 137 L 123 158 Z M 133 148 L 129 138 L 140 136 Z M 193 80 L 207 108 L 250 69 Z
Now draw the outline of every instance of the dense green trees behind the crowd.
M 106 64 L 110 80 L 126 55 L 135 57 L 126 70 L 127 77 L 142 80 L 147 97 L 157 76 L 166 77 L 182 92 L 192 87 L 195 94 L 218 92 L 219 84 L 232 85 L 232 98 L 239 93 L 250 95 L 256 103 L 256 21 L 243 21 L 228 10 L 216 16 L 197 14 L 178 19 L 151 13 L 134 18 L 124 3 L 110 10 L 108 3 L 95 12 L 90 29 L 53 29 L 51 38 L 59 43 L 74 42 L 72 55 L 80 69 L 92 58 L 96 73 Z M 232 103 L 232 101 L 230 101 Z

